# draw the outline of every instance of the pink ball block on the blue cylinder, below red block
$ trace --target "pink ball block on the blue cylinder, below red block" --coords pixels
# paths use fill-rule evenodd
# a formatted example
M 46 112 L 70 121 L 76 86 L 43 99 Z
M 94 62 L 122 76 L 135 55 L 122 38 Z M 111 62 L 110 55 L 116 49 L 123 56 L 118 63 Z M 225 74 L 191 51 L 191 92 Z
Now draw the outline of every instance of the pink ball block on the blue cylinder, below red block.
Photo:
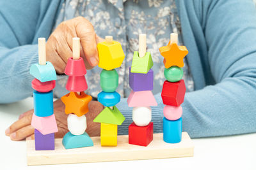
M 165 105 L 163 112 L 168 120 L 178 120 L 182 116 L 182 107 Z

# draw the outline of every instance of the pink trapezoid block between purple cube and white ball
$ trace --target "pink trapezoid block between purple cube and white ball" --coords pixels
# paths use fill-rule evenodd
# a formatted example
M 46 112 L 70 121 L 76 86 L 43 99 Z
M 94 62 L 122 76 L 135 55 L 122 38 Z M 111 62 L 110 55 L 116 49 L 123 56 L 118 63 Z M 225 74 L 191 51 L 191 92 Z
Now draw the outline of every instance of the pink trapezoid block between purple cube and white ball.
M 127 103 L 129 107 L 157 106 L 156 99 L 151 91 L 131 91 Z

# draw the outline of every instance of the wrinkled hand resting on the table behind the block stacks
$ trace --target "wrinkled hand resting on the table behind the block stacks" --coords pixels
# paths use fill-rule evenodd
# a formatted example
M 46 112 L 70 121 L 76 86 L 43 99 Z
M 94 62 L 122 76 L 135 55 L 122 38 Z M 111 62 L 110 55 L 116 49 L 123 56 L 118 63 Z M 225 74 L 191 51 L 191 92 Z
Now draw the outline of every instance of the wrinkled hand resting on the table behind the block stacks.
M 86 132 L 89 136 L 99 136 L 100 135 L 100 124 L 94 123 L 93 119 L 104 109 L 104 106 L 98 101 L 91 101 L 89 103 L 89 112 L 86 113 L 87 129 Z M 19 120 L 14 122 L 8 129 L 6 129 L 5 134 L 10 136 L 14 141 L 20 141 L 22 139 L 34 139 L 34 128 L 30 125 L 33 115 L 33 110 L 29 110 L 22 115 L 20 115 Z M 67 117 L 65 114 L 65 105 L 60 99 L 54 102 L 54 115 L 56 117 L 56 122 L 58 125 L 58 132 L 55 133 L 56 138 L 63 138 L 63 136 L 68 132 L 67 127 Z

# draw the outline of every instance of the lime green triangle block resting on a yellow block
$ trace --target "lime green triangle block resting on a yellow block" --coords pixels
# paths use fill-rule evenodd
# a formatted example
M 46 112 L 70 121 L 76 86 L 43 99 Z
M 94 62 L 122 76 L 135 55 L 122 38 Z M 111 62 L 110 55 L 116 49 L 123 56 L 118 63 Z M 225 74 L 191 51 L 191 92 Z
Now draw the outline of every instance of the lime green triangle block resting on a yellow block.
M 93 122 L 122 125 L 124 120 L 125 117 L 122 113 L 116 108 L 116 106 L 113 106 L 113 110 L 109 107 L 104 108 Z

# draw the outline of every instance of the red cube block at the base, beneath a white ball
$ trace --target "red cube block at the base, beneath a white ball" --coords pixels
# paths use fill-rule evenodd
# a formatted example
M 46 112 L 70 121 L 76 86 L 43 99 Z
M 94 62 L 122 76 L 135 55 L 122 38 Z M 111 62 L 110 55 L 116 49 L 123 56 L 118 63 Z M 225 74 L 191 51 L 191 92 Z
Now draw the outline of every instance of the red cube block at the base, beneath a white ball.
M 153 122 L 147 126 L 129 125 L 129 144 L 148 146 L 153 140 Z

